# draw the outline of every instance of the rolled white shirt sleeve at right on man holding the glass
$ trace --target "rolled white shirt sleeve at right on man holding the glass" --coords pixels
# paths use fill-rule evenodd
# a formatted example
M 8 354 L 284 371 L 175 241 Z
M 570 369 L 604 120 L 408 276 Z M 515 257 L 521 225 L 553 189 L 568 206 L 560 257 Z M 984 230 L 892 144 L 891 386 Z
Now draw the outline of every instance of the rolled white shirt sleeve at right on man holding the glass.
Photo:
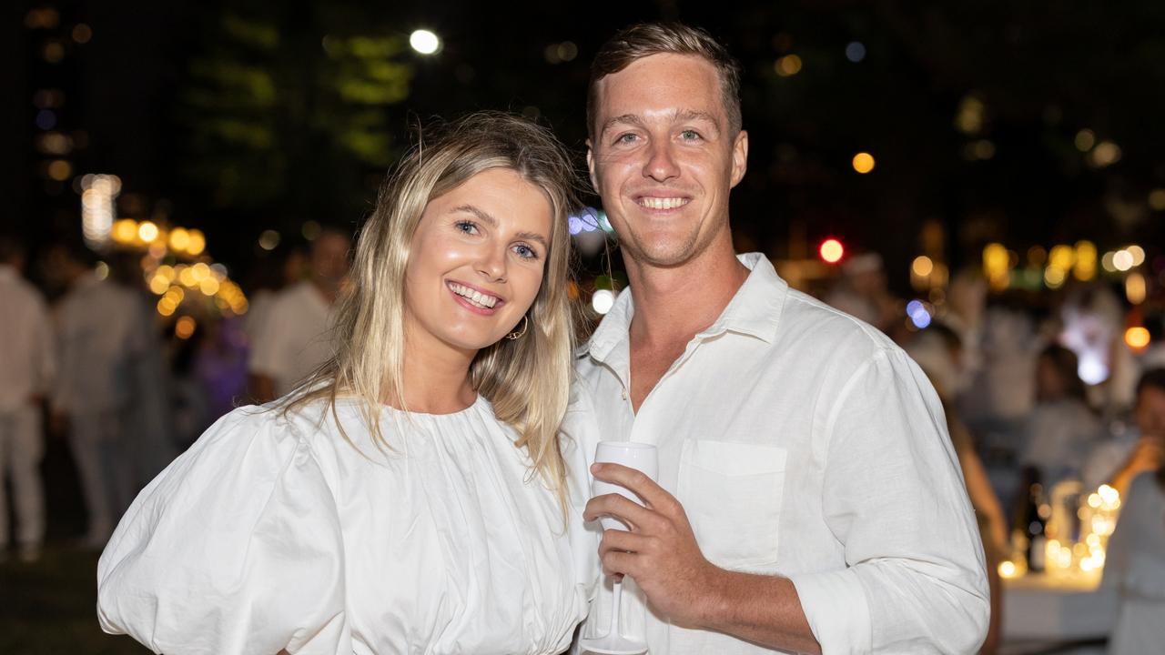
M 822 652 L 975 652 L 983 548 L 930 382 L 905 353 L 878 351 L 828 416 L 822 507 L 847 568 L 791 576 Z

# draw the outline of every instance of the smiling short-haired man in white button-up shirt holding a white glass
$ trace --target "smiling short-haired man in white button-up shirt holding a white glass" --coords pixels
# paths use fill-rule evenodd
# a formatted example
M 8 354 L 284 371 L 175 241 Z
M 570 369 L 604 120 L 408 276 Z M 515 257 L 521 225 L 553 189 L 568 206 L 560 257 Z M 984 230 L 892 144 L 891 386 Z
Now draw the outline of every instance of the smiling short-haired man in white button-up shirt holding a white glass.
M 585 516 L 626 573 L 624 634 L 650 652 L 970 653 L 983 554 L 942 407 L 868 325 L 736 256 L 739 68 L 683 26 L 623 30 L 592 64 L 587 161 L 620 238 L 620 295 L 578 371 L 608 439 L 655 443 L 659 480 Z M 609 590 L 584 635 L 606 631 Z

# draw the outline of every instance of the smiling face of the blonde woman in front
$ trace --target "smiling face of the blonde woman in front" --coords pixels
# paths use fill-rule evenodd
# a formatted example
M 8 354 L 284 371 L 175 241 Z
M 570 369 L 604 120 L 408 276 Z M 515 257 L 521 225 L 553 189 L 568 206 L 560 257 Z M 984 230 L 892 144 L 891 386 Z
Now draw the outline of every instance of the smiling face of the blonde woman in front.
M 405 268 L 407 347 L 472 357 L 521 329 L 542 286 L 552 214 L 539 188 L 503 168 L 430 200 Z

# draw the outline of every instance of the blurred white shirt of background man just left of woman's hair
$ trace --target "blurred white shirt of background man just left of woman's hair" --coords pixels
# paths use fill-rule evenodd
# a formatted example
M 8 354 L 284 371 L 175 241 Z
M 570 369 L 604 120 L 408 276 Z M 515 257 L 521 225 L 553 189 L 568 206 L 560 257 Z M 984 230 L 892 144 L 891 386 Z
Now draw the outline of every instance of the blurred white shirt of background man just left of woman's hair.
M 271 303 L 252 343 L 250 371 L 269 375 L 275 395 L 295 389 L 333 353 L 332 308 L 311 282 L 298 282 Z

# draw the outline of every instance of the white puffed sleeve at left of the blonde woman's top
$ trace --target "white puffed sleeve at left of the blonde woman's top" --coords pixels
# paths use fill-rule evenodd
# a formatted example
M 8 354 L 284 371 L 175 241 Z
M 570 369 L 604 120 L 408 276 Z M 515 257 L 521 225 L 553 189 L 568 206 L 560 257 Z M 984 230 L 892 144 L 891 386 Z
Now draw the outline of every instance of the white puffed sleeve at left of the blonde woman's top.
M 168 655 L 352 653 L 336 502 L 277 410 L 220 418 L 134 500 L 98 617 Z

